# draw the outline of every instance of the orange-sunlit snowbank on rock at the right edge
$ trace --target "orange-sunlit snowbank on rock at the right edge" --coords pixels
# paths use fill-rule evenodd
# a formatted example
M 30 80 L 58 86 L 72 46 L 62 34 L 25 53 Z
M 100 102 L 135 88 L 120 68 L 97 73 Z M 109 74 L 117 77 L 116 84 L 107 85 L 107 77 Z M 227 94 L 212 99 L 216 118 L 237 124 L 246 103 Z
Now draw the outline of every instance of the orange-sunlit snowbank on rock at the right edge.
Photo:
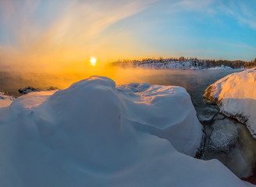
M 204 97 L 220 111 L 245 123 L 256 138 L 256 69 L 235 72 L 208 86 Z

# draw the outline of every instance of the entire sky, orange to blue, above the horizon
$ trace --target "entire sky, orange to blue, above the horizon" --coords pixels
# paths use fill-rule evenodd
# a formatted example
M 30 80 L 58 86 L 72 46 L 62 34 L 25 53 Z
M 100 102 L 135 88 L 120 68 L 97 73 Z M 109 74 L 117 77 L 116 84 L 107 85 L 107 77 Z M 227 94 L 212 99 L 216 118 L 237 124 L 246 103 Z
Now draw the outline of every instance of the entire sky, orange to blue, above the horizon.
M 86 69 L 91 57 L 256 58 L 254 0 L 0 0 L 0 69 Z

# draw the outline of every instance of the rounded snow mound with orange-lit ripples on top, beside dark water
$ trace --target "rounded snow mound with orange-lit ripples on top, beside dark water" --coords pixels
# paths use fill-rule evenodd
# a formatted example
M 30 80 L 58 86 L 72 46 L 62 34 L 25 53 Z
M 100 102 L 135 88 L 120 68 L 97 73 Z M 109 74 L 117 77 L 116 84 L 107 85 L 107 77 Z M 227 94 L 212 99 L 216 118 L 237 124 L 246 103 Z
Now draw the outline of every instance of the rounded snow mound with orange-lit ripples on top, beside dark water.
M 168 139 L 181 153 L 195 155 L 202 127 L 183 87 L 132 83 L 118 86 L 118 91 L 123 93 L 122 101 L 133 108 L 126 111 L 126 116 L 137 130 Z

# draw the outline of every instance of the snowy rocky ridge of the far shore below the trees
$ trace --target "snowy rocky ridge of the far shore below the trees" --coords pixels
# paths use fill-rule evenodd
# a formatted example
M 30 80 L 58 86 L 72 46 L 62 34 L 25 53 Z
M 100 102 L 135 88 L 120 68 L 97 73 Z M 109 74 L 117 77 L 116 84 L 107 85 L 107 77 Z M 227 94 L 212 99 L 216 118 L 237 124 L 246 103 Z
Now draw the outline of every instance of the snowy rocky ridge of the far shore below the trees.
M 121 68 L 139 68 L 139 69 L 233 69 L 228 65 L 208 64 L 204 60 L 184 59 L 184 60 L 144 60 L 133 62 L 113 62 L 113 66 Z

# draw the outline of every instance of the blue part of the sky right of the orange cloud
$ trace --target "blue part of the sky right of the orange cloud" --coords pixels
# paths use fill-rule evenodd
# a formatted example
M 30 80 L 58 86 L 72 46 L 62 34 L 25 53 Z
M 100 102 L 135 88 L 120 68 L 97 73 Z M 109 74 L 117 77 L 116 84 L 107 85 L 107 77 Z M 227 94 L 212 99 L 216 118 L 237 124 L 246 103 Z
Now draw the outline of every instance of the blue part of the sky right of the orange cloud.
M 116 27 L 131 30 L 154 56 L 255 58 L 256 1 L 201 2 L 159 1 Z

